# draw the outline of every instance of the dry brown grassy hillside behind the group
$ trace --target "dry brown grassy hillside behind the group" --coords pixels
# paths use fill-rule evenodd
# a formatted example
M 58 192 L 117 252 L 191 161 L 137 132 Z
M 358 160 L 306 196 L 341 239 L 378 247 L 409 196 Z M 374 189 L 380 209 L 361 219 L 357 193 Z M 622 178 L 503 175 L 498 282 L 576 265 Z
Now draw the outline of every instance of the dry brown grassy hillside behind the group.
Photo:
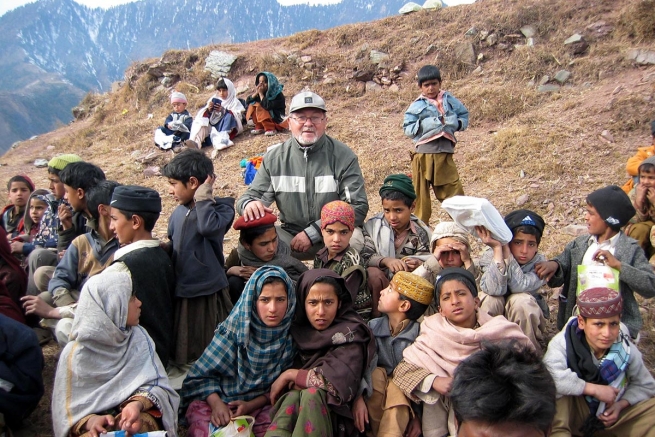
M 175 88 L 186 93 L 194 114 L 212 93 L 206 89 L 213 80 L 204 71 L 204 59 L 220 48 L 238 56 L 229 75 L 237 87 L 248 84 L 252 92 L 257 72 L 267 70 L 284 83 L 287 101 L 304 88 L 326 99 L 328 134 L 358 154 L 372 214 L 380 210 L 377 189 L 384 177 L 410 171 L 411 141 L 402 133 L 402 116 L 418 95 L 417 70 L 434 63 L 442 69 L 443 87 L 470 111 L 471 125 L 459 135 L 455 158 L 466 193 L 490 199 L 501 213 L 516 208 L 517 198 L 527 194 L 524 207 L 541 213 L 549 225 L 542 250 L 552 256 L 573 238 L 561 229 L 584 223 L 586 194 L 606 184 L 622 185 L 626 159 L 638 146 L 650 143 L 655 66 L 638 66 L 626 53 L 655 50 L 654 10 L 654 0 L 479 0 L 276 40 L 169 51 L 161 60 L 131 66 L 120 90 L 87 96 L 85 105 L 92 108 L 87 119 L 9 151 L 0 159 L 0 176 L 7 180 L 26 172 L 46 187 L 46 171 L 35 169 L 34 159 L 78 153 L 101 166 L 110 179 L 159 190 L 165 206 L 157 231 L 164 236 L 175 205 L 167 196 L 166 180 L 145 178 L 143 170 L 163 166 L 172 157 L 156 152 L 152 141 L 154 129 L 170 112 L 170 89 L 145 72 L 152 63 L 166 63 L 167 71 L 179 75 Z M 521 33 L 527 25 L 536 30 L 532 47 Z M 477 34 L 466 36 L 473 27 Z M 496 36 L 483 38 L 485 33 Z M 564 45 L 575 33 L 589 44 L 580 55 Z M 478 61 L 459 60 L 456 52 L 462 42 L 472 43 Z M 386 65 L 373 65 L 371 50 L 387 53 Z M 311 60 L 301 67 L 303 56 Z M 552 78 L 559 70 L 571 73 L 565 85 L 558 92 L 538 92 L 541 78 Z M 397 90 L 385 85 L 377 92 L 365 91 L 353 78 L 356 71 L 391 78 Z M 604 130 L 613 142 L 600 137 Z M 239 161 L 287 137 L 238 137 L 235 147 L 219 152 L 214 160 L 216 192 L 243 193 Z M 137 158 L 149 152 L 156 155 L 144 165 Z M 434 211 L 432 225 L 446 217 L 436 203 Z M 231 248 L 235 234 L 228 238 L 226 248 Z M 653 370 L 651 306 L 644 302 L 646 328 L 640 348 Z M 47 408 L 47 400 L 43 402 Z

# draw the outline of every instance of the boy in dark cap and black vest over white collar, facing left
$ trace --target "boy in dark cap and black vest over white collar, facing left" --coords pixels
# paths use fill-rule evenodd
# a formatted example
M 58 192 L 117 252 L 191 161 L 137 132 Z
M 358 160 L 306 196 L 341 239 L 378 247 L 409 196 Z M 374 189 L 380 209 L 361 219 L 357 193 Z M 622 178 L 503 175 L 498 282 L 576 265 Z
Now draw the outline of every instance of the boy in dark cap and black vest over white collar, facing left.
M 121 248 L 105 271 L 123 271 L 131 276 L 134 295 L 143 303 L 139 324 L 148 331 L 166 367 L 173 349 L 175 274 L 170 257 L 152 236 L 160 212 L 161 198 L 155 190 L 135 185 L 116 187 L 109 229 Z

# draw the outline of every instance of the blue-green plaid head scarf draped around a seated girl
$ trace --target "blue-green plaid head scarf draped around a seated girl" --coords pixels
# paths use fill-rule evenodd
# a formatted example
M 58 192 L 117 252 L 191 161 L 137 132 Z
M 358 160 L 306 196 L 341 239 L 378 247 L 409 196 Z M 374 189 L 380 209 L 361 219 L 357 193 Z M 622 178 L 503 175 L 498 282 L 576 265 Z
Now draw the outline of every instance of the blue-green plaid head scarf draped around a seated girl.
M 257 314 L 257 299 L 268 278 L 281 278 L 287 288 L 287 312 L 276 327 L 267 327 Z M 249 401 L 268 392 L 275 379 L 291 367 L 295 356 L 289 327 L 296 295 L 280 267 L 264 266 L 252 274 L 227 319 L 195 362 L 182 386 L 182 410 L 195 399 L 217 393 L 223 402 Z

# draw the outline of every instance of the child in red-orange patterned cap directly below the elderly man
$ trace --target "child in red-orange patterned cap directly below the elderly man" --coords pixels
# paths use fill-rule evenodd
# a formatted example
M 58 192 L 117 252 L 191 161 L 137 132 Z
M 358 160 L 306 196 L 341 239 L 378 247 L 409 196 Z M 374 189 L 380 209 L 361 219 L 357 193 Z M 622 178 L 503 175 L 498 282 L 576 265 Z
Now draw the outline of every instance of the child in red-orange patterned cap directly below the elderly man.
M 366 286 L 366 270 L 359 253 L 350 246 L 355 230 L 355 210 L 343 200 L 334 200 L 321 209 L 321 233 L 325 247 L 316 253 L 315 269 L 330 269 L 341 275 L 346 287 L 357 294 L 353 308 L 364 321 L 371 318 L 371 293 Z M 355 292 L 356 291 L 356 292 Z

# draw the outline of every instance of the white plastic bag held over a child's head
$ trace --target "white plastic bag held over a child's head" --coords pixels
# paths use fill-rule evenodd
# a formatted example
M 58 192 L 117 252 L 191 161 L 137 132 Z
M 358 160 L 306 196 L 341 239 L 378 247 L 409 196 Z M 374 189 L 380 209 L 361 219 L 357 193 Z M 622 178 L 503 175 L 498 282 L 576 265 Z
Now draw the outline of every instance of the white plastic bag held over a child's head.
M 476 237 L 476 226 L 484 226 L 494 240 L 507 244 L 512 241 L 512 231 L 498 210 L 487 199 L 471 196 L 455 196 L 444 200 L 441 207 L 453 218 L 455 223 L 466 228 Z

